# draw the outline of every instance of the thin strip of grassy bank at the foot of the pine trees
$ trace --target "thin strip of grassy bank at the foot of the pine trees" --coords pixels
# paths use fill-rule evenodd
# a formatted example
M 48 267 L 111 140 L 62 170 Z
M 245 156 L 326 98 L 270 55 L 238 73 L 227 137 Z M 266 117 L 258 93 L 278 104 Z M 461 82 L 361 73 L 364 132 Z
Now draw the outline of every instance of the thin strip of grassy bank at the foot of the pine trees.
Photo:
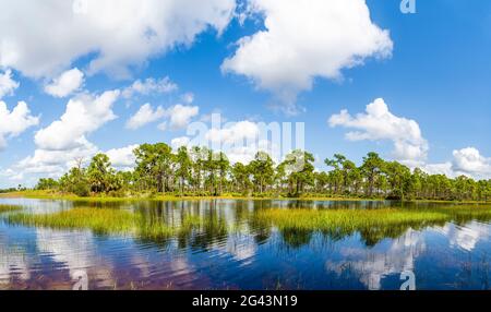
M 200 200 L 275 200 L 275 201 L 334 201 L 334 202 L 381 202 L 385 201 L 384 199 L 362 199 L 362 197 L 331 197 L 331 196 L 311 196 L 306 195 L 302 197 L 283 197 L 283 196 L 235 196 L 235 195 L 220 195 L 220 196 L 180 196 L 176 194 L 168 195 L 131 195 L 125 197 L 112 197 L 112 196 L 88 196 L 81 197 L 74 194 L 67 193 L 52 193 L 46 191 L 20 191 L 12 193 L 2 193 L 0 194 L 0 199 L 35 199 L 35 200 L 64 200 L 64 201 L 79 201 L 79 202 L 132 202 L 132 201 L 200 201 Z M 411 200 L 404 201 L 407 203 L 447 203 L 447 204 L 491 204 L 491 202 L 478 202 L 478 201 L 434 201 L 434 200 Z

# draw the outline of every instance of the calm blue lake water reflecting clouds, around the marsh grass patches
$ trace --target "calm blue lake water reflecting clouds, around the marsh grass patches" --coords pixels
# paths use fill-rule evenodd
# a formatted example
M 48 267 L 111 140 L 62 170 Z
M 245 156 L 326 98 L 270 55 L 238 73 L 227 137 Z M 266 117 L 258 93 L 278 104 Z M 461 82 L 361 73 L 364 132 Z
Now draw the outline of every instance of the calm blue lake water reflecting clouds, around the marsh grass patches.
M 21 205 L 33 214 L 110 206 L 168 225 L 183 213 L 207 220 L 206 227 L 185 236 L 143 240 L 12 226 L 0 219 L 0 289 L 72 289 L 82 272 L 89 289 L 395 290 L 407 271 L 414 272 L 417 289 L 491 288 L 491 225 L 484 221 L 407 228 L 373 241 L 360 233 L 292 235 L 251 219 L 258 209 L 270 207 L 363 209 L 397 203 L 206 200 L 103 205 L 0 199 L 0 204 Z

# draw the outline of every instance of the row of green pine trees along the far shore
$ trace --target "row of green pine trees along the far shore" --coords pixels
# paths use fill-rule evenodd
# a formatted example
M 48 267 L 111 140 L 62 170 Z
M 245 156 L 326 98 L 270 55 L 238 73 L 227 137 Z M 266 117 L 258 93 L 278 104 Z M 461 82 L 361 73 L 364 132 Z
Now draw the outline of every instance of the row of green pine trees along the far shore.
M 259 152 L 248 164 L 230 164 L 226 154 L 206 147 L 180 147 L 165 143 L 143 144 L 134 149 L 133 170 L 116 170 L 109 157 L 98 154 L 88 166 L 79 165 L 60 179 L 40 179 L 37 190 L 57 190 L 80 196 L 134 193 L 192 196 L 335 196 L 393 200 L 489 201 L 491 180 L 429 175 L 376 153 L 361 166 L 336 154 L 325 159 L 328 171 L 314 168 L 314 156 L 294 151 L 279 164 Z

